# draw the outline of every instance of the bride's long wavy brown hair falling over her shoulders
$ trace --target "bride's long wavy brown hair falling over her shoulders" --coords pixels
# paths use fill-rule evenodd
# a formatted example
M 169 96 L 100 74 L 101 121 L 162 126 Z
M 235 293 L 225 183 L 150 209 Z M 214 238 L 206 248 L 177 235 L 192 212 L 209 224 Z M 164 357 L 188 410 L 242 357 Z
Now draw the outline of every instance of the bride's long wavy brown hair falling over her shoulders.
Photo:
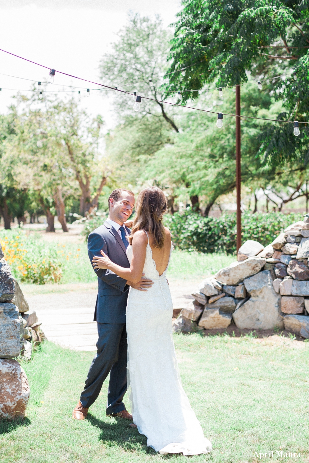
M 136 216 L 133 220 L 129 243 L 135 232 L 144 230 L 154 238 L 154 248 L 162 249 L 165 241 L 165 230 L 162 224 L 163 214 L 167 212 L 166 196 L 158 187 L 145 188 L 139 193 L 136 201 Z

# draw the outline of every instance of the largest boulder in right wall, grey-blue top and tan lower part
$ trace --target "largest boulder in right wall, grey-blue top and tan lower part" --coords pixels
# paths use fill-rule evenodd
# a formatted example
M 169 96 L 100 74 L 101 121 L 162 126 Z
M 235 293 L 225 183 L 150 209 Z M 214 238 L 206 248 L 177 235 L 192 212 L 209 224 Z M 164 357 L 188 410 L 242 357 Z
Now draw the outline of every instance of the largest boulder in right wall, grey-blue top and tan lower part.
M 273 288 L 271 272 L 263 270 L 246 278 L 244 284 L 251 298 L 233 313 L 236 326 L 240 329 L 261 330 L 271 330 L 274 326 L 283 328 L 281 296 Z

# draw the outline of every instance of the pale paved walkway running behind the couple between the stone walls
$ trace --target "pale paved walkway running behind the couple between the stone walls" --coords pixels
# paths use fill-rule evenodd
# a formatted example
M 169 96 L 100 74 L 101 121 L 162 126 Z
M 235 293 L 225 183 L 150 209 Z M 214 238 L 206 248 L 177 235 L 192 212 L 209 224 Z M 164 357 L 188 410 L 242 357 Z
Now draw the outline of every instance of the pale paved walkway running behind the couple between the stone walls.
M 27 295 L 30 312 L 36 311 L 42 329 L 50 341 L 75 350 L 96 350 L 97 325 L 93 321 L 97 291 L 71 285 L 68 292 Z M 86 285 L 85 285 L 86 286 Z M 195 282 L 171 280 L 173 308 L 183 308 L 193 300 Z

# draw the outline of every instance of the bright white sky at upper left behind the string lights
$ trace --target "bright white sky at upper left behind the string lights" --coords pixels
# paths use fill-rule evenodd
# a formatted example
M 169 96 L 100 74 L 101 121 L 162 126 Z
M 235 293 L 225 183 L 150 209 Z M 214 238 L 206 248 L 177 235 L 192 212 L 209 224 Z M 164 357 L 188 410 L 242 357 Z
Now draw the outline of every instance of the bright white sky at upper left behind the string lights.
M 100 58 L 117 39 L 115 33 L 125 25 L 129 10 L 145 16 L 160 14 L 168 26 L 180 9 L 179 0 L 0 0 L 0 48 L 67 74 L 99 81 Z M 32 82 L 1 74 L 43 82 L 49 71 L 0 51 L 0 113 L 6 113 L 16 94 L 14 89 L 27 90 Z M 95 88 L 57 73 L 56 83 Z M 49 85 L 47 90 L 55 87 Z M 115 125 L 108 96 L 90 91 L 89 98 L 82 97 L 81 105 L 93 115 L 101 114 L 106 129 Z

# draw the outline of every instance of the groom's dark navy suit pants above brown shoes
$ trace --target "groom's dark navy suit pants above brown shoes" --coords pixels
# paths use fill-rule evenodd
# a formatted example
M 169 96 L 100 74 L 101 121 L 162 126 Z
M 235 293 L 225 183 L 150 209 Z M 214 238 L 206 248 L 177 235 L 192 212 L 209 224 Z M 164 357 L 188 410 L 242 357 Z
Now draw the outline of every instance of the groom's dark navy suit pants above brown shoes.
M 110 372 L 106 414 L 126 410 L 122 402 L 126 393 L 126 325 L 98 323 L 97 353 L 91 363 L 81 394 L 81 404 L 88 408 L 98 397 L 102 384 Z

